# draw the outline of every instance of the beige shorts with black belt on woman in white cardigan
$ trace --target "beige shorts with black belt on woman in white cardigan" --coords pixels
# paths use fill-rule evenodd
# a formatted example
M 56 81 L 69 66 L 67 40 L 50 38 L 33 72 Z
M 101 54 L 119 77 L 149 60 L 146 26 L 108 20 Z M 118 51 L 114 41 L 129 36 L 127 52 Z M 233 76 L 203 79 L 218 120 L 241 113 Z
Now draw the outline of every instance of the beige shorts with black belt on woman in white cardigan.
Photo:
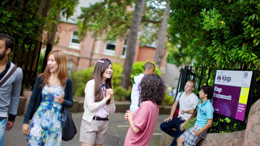
M 86 143 L 89 145 L 105 143 L 108 130 L 108 121 L 95 121 L 88 122 L 82 119 L 80 131 L 79 131 L 79 142 Z

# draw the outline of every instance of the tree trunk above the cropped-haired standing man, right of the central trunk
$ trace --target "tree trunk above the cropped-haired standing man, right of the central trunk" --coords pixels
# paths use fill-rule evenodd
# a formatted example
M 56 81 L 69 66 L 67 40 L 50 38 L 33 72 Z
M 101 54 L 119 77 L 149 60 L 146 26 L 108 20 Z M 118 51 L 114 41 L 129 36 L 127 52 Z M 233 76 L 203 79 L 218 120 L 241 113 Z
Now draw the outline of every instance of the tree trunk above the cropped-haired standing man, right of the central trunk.
M 164 15 L 163 19 L 161 21 L 161 28 L 159 29 L 157 33 L 157 39 L 158 39 L 158 44 L 157 48 L 155 50 L 155 64 L 158 66 L 158 68 L 161 67 L 161 61 L 164 56 L 164 47 L 165 47 L 165 39 L 167 35 L 167 25 L 168 21 L 167 19 L 169 18 L 170 15 L 170 2 L 167 3 L 166 8 L 164 10 Z

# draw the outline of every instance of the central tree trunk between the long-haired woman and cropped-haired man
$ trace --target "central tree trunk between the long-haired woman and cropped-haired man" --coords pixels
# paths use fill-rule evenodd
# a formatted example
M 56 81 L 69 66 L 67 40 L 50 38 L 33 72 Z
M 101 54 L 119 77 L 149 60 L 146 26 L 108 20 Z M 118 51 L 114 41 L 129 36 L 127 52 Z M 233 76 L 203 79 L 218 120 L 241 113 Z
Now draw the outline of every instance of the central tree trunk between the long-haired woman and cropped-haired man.
M 133 61 L 135 57 L 135 46 L 137 40 L 137 34 L 142 19 L 142 13 L 144 10 L 144 0 L 135 1 L 135 11 L 133 12 L 133 18 L 130 26 L 129 39 L 127 43 L 127 55 L 125 57 L 125 63 L 123 68 L 123 76 L 121 77 L 121 83 L 119 86 L 127 89 L 130 83 L 130 76 L 133 68 Z

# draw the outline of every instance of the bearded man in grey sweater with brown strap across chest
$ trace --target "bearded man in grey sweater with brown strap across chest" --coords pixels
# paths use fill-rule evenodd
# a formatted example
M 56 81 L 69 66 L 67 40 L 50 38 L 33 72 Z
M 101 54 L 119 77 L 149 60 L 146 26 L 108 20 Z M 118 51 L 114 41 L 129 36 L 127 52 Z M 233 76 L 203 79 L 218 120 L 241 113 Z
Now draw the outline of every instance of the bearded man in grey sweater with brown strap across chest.
M 13 46 L 12 38 L 0 33 L 0 146 L 4 143 L 5 130 L 10 130 L 14 125 L 23 78 L 22 69 L 16 68 L 8 58 Z M 8 78 L 9 74 L 12 75 Z

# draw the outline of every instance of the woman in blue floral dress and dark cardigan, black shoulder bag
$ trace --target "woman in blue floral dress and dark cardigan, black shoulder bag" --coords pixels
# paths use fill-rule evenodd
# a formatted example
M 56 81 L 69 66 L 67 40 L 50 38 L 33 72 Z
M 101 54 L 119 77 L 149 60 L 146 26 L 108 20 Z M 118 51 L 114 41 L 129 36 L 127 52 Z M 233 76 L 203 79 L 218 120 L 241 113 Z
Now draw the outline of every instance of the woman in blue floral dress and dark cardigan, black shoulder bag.
M 39 74 L 24 116 L 22 132 L 28 145 L 61 145 L 62 107 L 73 106 L 73 82 L 68 77 L 66 55 L 51 51 Z M 31 124 L 29 125 L 29 120 Z

